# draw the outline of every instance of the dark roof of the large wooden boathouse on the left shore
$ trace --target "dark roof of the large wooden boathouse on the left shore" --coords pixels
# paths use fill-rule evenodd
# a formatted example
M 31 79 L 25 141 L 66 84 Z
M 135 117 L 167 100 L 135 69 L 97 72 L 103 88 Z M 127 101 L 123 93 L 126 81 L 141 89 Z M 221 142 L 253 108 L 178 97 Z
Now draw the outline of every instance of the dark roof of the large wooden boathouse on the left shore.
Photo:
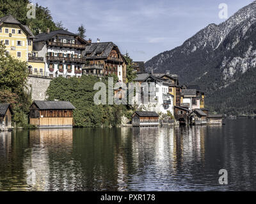
M 69 101 L 34 101 L 40 110 L 74 110 L 75 106 Z

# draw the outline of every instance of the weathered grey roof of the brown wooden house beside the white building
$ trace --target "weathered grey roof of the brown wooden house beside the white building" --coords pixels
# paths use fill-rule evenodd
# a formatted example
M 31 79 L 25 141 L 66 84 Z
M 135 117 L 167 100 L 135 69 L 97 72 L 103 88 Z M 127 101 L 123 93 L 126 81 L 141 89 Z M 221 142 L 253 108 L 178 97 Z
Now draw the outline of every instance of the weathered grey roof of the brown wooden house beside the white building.
M 84 56 L 88 59 L 107 58 L 114 47 L 117 48 L 117 45 L 112 42 L 91 43 L 90 45 L 86 46 Z M 99 53 L 100 56 L 97 56 Z M 90 56 L 88 57 L 87 54 L 90 54 Z

